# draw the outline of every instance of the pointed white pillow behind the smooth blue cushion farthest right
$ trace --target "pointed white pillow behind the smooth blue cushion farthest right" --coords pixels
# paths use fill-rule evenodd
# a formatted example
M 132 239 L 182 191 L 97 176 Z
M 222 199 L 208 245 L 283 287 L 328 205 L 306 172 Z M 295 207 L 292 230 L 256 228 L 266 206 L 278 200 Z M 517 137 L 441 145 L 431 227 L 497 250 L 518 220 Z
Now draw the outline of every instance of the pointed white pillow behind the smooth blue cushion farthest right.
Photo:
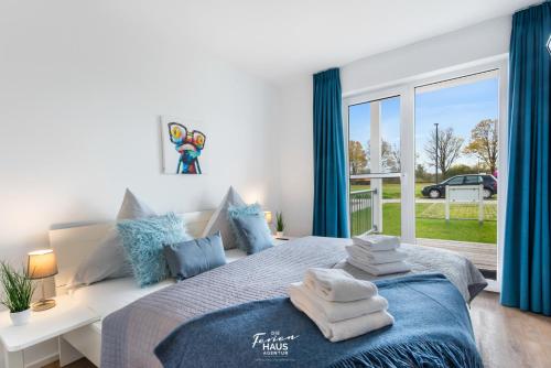
M 216 208 L 213 216 L 208 220 L 202 236 L 203 238 L 206 238 L 220 231 L 224 249 L 237 248 L 237 239 L 228 220 L 229 206 L 245 206 L 245 202 L 233 186 L 229 187 L 228 193 L 224 196 L 220 205 Z

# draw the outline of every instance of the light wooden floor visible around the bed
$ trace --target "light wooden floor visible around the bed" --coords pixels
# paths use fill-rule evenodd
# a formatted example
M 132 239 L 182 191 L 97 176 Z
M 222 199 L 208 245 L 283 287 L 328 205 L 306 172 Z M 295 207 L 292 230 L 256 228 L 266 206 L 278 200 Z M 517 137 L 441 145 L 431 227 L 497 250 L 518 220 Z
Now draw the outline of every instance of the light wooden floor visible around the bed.
M 471 304 L 471 318 L 485 368 L 551 367 L 551 317 L 501 306 L 498 294 L 483 292 Z M 67 367 L 95 366 L 82 359 Z

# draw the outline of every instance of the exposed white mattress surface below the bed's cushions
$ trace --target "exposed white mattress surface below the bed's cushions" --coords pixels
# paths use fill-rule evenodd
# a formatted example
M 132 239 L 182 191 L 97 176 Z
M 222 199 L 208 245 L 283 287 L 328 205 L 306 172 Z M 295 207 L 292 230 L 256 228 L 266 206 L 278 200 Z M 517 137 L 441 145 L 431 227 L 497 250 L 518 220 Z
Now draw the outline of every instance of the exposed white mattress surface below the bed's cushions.
M 228 263 L 247 257 L 239 249 L 229 249 L 225 252 Z M 75 289 L 71 292 L 71 295 L 94 310 L 102 320 L 112 312 L 127 306 L 142 296 L 170 286 L 174 282 L 174 280 L 170 279 L 154 285 L 140 288 L 133 278 L 114 279 Z M 95 323 L 95 327 L 101 329 L 101 321 Z

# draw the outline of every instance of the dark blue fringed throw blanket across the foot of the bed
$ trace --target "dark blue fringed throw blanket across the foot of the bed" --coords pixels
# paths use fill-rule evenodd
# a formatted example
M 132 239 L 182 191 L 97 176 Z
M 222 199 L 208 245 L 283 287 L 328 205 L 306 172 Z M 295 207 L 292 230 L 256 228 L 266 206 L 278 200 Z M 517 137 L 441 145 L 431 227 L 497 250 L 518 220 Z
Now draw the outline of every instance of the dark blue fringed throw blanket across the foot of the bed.
M 331 343 L 289 299 L 273 299 L 191 320 L 155 355 L 166 368 L 483 367 L 465 301 L 444 275 L 376 283 L 393 326 Z

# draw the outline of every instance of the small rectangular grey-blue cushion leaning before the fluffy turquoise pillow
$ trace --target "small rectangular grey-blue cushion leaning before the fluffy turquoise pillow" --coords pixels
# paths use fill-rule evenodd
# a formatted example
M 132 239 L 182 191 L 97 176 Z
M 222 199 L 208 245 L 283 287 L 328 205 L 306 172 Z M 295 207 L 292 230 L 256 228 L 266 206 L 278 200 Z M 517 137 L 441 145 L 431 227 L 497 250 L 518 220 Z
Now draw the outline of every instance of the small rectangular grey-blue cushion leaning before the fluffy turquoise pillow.
M 173 278 L 184 280 L 226 264 L 220 232 L 164 246 L 164 257 Z

